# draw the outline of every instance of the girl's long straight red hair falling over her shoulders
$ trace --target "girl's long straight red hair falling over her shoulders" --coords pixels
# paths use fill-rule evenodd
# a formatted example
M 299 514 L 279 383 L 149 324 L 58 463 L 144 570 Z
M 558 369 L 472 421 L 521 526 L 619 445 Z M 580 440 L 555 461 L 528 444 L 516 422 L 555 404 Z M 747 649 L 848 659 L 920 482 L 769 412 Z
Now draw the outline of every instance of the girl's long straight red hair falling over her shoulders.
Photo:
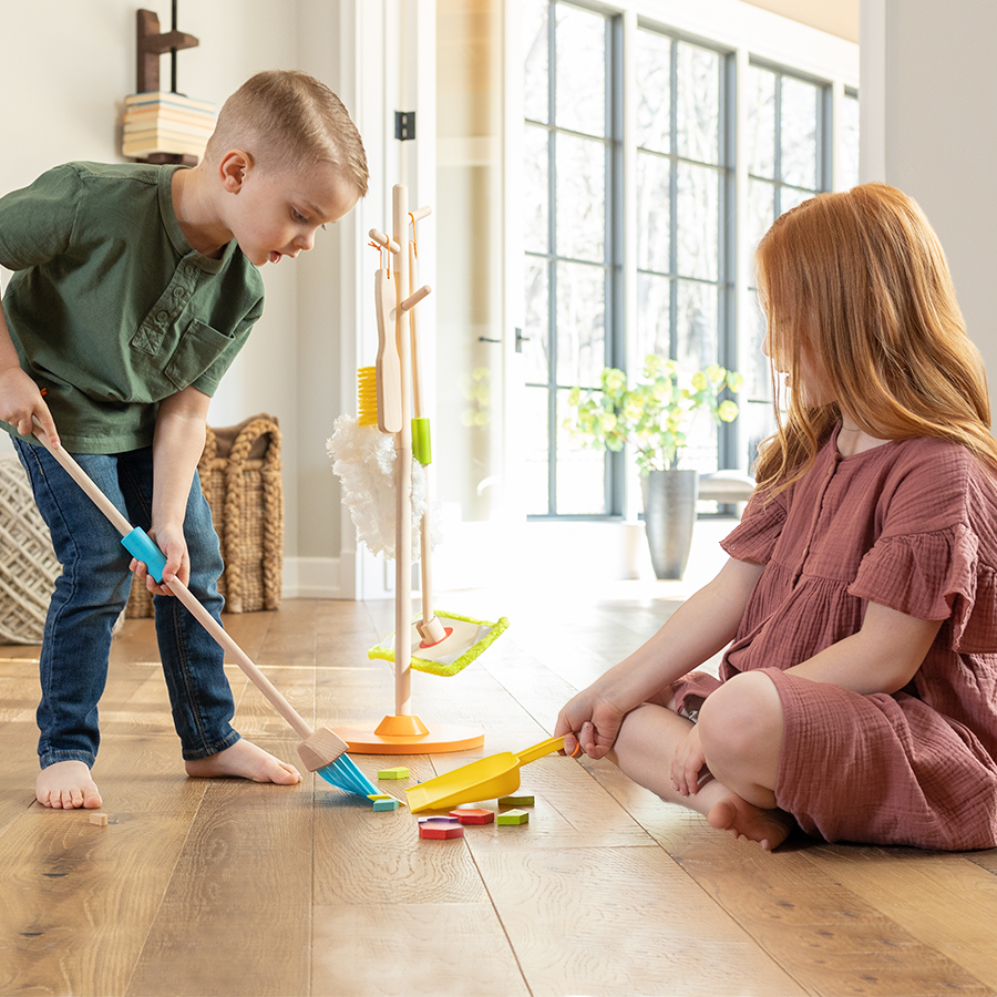
M 773 380 L 812 350 L 864 432 L 952 440 L 997 472 L 983 362 L 938 237 L 911 197 L 885 184 L 820 194 L 775 220 L 756 263 Z M 806 473 L 841 420 L 837 402 L 788 395 L 777 388 L 778 430 L 756 465 L 774 491 Z

